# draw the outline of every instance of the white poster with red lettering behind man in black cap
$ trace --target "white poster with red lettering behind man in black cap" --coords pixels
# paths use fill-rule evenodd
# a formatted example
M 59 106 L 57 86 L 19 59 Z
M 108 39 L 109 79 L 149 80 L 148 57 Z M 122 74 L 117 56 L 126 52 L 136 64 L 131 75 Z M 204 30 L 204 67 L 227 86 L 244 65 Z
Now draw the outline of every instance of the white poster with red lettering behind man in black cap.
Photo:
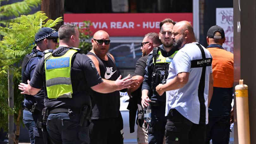
M 233 8 L 216 8 L 216 25 L 222 27 L 225 32 L 226 41 L 222 45 L 223 48 L 233 53 Z

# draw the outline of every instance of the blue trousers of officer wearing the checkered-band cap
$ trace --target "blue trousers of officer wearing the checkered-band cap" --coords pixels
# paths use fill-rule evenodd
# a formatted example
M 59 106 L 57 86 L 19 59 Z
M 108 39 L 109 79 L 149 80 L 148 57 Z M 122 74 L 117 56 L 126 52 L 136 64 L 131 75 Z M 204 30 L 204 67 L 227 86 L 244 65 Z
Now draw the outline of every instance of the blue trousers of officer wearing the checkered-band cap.
M 36 127 L 39 115 L 40 111 L 35 111 L 35 113 L 32 114 L 30 111 L 23 110 L 23 123 L 28 130 L 31 144 L 44 144 L 43 137 L 39 135 L 41 130 Z

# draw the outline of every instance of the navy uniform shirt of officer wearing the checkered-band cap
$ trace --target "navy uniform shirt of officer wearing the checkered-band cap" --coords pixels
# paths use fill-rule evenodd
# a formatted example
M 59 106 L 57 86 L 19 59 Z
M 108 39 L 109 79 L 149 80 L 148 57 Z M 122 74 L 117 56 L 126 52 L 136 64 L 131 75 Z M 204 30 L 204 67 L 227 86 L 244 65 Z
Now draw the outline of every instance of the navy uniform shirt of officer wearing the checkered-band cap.
M 36 49 L 36 46 L 32 49 L 32 52 L 29 54 L 30 56 L 33 54 L 38 54 L 43 56 L 43 52 Z M 33 57 L 27 62 L 27 66 L 25 68 L 25 71 L 22 75 L 24 75 L 25 81 L 31 80 L 34 70 L 36 68 L 37 63 L 39 63 L 41 57 Z M 39 110 L 42 110 L 44 108 L 44 98 L 45 98 L 45 92 L 42 88 L 36 95 L 28 95 L 24 94 L 24 106 L 31 107 L 34 105 L 34 103 L 37 103 L 37 107 Z

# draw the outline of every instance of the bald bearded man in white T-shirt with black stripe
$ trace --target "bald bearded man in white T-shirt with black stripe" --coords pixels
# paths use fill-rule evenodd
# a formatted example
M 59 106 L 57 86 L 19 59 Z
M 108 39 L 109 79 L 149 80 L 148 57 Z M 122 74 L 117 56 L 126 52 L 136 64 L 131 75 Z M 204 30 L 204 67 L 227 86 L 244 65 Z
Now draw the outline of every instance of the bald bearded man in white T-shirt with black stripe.
M 196 42 L 193 27 L 180 21 L 173 27 L 174 48 L 181 48 L 169 65 L 166 84 L 159 84 L 159 95 L 166 92 L 166 143 L 204 144 L 208 105 L 213 77 L 210 52 Z

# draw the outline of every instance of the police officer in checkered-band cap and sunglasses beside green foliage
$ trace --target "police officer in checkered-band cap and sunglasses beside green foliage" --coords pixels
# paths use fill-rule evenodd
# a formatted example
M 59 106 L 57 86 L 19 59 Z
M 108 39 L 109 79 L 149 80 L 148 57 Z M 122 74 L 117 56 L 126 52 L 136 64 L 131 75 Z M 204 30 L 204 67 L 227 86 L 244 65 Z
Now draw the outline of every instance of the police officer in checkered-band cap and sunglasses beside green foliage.
M 43 57 L 43 51 L 48 49 L 56 49 L 58 45 L 58 32 L 49 27 L 43 27 L 35 34 L 36 46 L 30 54 L 24 57 L 22 63 L 22 82 L 25 83 L 33 76 L 35 67 Z M 23 92 L 21 92 L 24 94 Z M 30 137 L 31 144 L 43 144 L 41 130 L 36 127 L 38 118 L 44 108 L 44 89 L 33 95 L 24 94 L 23 104 L 23 123 L 25 124 Z

